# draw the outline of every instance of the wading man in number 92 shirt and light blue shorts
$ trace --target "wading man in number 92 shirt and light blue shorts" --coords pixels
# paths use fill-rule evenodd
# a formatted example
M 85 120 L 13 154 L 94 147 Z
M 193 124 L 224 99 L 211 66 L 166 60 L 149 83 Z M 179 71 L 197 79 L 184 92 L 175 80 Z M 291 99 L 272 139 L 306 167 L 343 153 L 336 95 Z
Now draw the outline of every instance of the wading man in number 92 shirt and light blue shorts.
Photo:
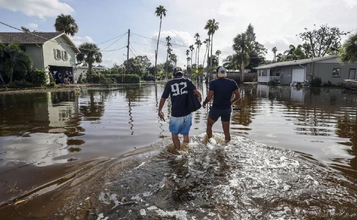
M 183 135 L 183 142 L 189 143 L 188 133 L 192 125 L 192 114 L 188 110 L 188 92 L 193 91 L 198 99 L 201 99 L 201 93 L 198 92 L 192 81 L 183 77 L 181 67 L 174 68 L 174 78 L 166 83 L 164 92 L 162 93 L 159 105 L 159 117 L 162 107 L 169 96 L 171 97 L 171 118 L 169 130 L 172 135 L 172 142 L 177 149 L 180 149 L 180 139 L 178 134 Z

